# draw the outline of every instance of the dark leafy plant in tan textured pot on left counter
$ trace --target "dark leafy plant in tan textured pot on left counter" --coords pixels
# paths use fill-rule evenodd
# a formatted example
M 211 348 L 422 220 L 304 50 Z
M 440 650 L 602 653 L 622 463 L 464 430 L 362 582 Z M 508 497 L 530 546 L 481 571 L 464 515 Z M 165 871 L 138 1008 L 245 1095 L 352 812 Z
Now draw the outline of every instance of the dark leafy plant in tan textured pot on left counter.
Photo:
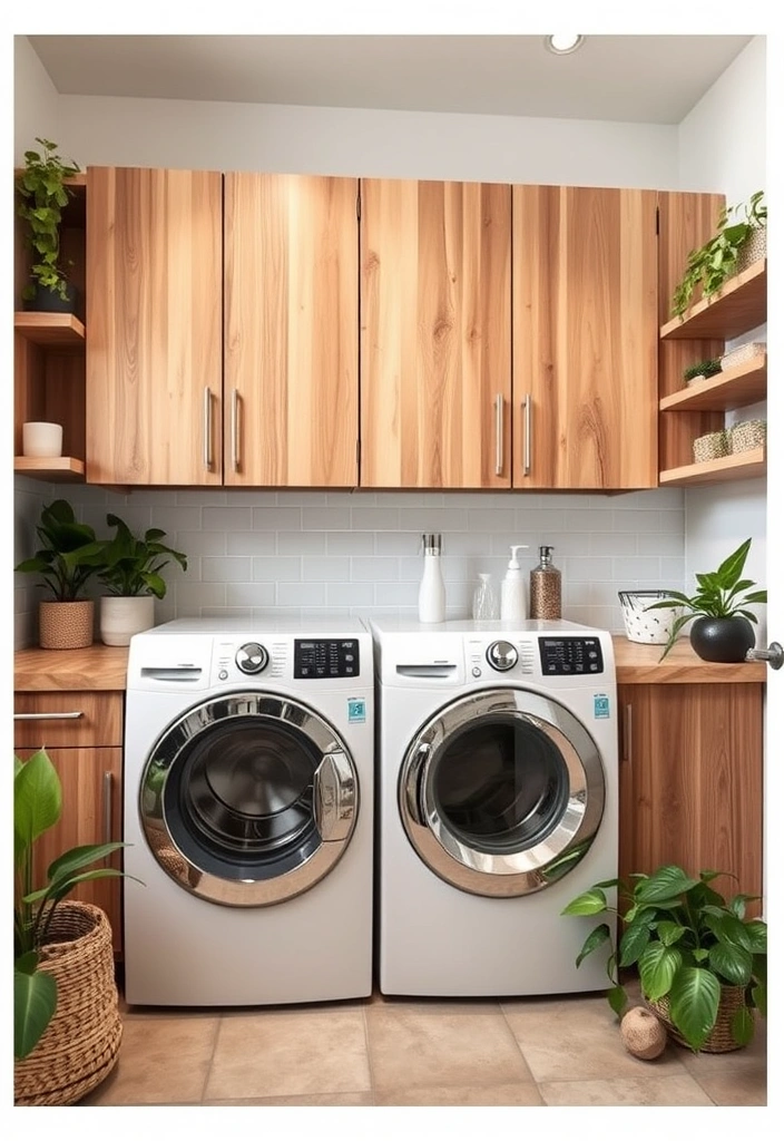
M 15 570 L 43 580 L 51 600 L 39 602 L 39 642 L 43 649 L 92 645 L 93 610 L 84 588 L 101 568 L 104 544 L 88 524 L 77 523 L 67 500 L 43 504 L 35 528 L 41 549 Z

